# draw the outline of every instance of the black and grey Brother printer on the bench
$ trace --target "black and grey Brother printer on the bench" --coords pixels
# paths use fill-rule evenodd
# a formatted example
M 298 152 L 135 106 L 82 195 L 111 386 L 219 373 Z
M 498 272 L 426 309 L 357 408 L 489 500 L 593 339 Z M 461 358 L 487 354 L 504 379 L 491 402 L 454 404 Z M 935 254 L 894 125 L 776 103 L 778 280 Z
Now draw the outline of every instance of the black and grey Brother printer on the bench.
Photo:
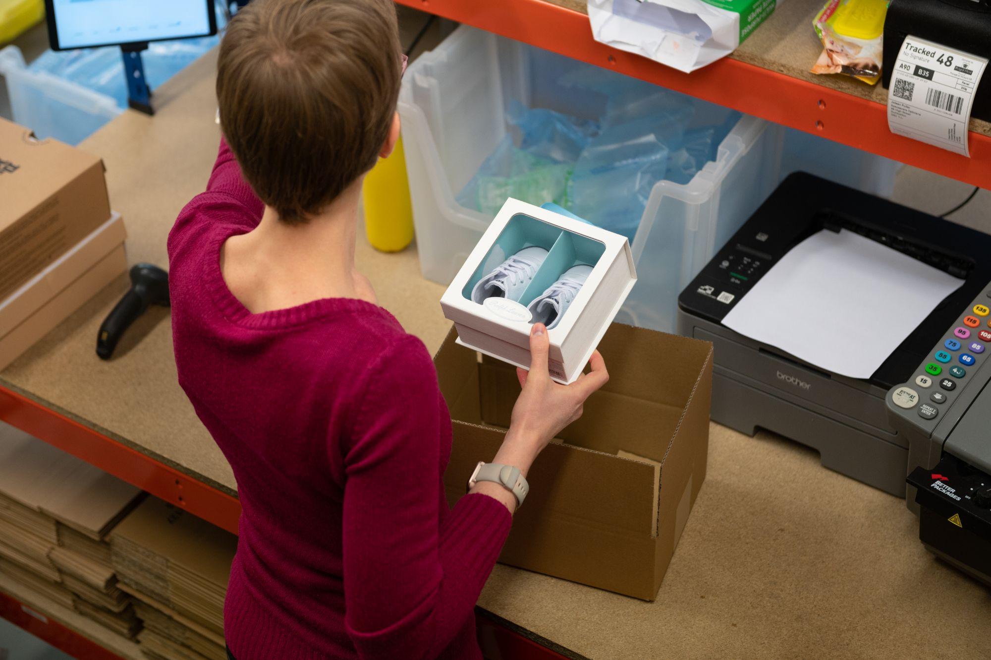
M 721 322 L 782 256 L 823 229 L 854 231 L 964 280 L 869 379 L 826 373 Z M 713 419 L 749 435 L 758 428 L 780 433 L 817 449 L 827 468 L 905 496 L 908 471 L 935 462 L 914 457 L 920 462 L 910 465 L 912 433 L 928 426 L 917 431 L 893 424 L 888 392 L 914 380 L 920 364 L 933 362 L 933 347 L 944 342 L 947 329 L 952 332 L 960 318 L 972 314 L 974 300 L 986 294 L 991 281 L 989 255 L 991 236 L 811 174 L 792 174 L 678 299 L 678 332 L 715 345 Z M 986 345 L 991 355 L 991 342 Z M 936 384 L 926 396 L 936 391 L 945 390 Z M 991 408 L 991 390 L 986 403 Z M 945 403 L 931 407 L 936 423 L 949 417 Z M 906 414 L 915 415 L 914 424 L 932 421 L 915 410 Z

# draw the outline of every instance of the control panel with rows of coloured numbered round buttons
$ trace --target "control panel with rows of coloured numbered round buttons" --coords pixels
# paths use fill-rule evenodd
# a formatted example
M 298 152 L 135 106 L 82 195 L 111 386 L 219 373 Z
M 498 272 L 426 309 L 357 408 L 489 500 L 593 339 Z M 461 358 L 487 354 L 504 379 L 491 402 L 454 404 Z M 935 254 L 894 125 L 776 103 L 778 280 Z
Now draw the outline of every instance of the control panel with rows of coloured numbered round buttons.
M 967 305 L 911 381 L 888 393 L 889 409 L 932 433 L 976 371 L 991 358 L 991 284 Z

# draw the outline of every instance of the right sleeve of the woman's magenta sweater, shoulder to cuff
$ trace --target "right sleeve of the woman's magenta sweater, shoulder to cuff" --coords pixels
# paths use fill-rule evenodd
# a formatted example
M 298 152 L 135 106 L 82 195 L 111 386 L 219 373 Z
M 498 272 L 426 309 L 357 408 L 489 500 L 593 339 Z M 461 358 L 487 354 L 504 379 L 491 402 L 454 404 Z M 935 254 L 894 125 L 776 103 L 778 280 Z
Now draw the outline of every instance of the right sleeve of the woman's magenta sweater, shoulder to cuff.
M 436 657 L 474 615 L 509 533 L 493 497 L 441 504 L 449 423 L 430 355 L 404 338 L 370 370 L 345 450 L 346 624 L 363 659 Z

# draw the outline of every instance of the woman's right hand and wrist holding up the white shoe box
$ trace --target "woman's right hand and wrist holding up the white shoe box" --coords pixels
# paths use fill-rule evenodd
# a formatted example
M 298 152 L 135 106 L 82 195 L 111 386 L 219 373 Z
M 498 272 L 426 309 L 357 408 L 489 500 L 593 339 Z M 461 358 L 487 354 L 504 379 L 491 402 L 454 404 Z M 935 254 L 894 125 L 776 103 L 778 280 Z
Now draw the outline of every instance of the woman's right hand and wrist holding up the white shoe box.
M 530 329 L 530 371 L 516 370 L 523 391 L 512 407 L 509 430 L 493 460 L 519 468 L 524 477 L 547 443 L 582 416 L 585 399 L 609 380 L 606 362 L 596 351 L 589 360 L 591 372 L 583 374 L 571 385 L 557 384 L 547 370 L 549 351 L 547 328 L 541 323 L 534 324 Z M 497 484 L 479 482 L 472 492 L 495 497 L 510 512 L 516 508 L 515 497 Z

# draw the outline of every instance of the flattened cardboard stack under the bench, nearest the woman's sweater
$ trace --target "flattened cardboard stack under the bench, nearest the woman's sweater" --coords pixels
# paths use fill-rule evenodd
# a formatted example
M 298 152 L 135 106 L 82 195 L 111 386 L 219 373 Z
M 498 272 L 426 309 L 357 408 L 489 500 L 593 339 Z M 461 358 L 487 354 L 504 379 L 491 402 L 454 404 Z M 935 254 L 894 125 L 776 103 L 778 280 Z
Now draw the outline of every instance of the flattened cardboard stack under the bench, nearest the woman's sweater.
M 136 597 L 150 658 L 224 660 L 224 597 L 237 537 L 149 497 L 110 535 L 121 589 Z

